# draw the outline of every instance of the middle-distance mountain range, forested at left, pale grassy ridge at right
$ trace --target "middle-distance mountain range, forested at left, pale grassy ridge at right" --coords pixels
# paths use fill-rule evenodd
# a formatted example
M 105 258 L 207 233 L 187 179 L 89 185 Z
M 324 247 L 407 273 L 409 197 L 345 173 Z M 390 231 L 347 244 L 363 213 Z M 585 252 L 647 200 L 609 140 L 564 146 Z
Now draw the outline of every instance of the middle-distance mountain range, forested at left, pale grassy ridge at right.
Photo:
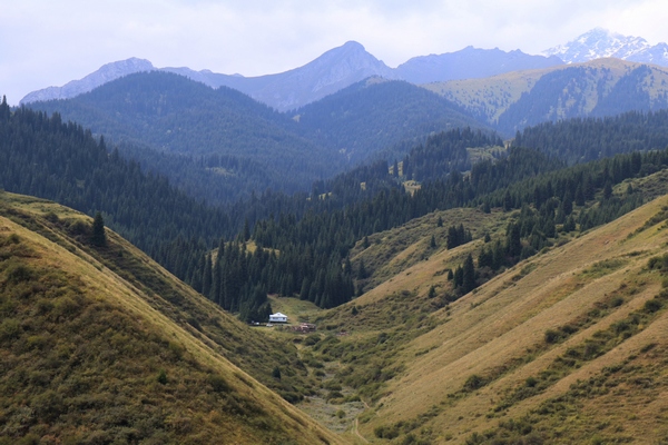
M 362 162 L 400 160 L 453 128 L 510 138 L 544 121 L 668 108 L 668 70 L 608 58 L 422 87 L 372 77 L 289 113 L 154 70 L 29 107 L 104 135 L 191 196 L 229 204 L 254 191 L 307 191 Z

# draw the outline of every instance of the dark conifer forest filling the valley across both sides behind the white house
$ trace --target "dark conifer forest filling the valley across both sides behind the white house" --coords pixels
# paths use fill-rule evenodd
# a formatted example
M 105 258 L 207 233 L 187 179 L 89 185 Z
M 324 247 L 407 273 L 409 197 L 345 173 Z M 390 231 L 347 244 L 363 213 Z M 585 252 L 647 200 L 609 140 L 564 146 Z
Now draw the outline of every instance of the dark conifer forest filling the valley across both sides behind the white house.
M 597 188 L 651 172 L 665 162 L 662 155 L 632 155 L 518 182 L 562 164 L 517 148 L 502 159 L 477 164 L 468 177 L 453 172 L 441 180 L 446 167 L 456 168 L 465 159 L 464 147 L 498 142 L 477 131 L 453 130 L 430 138 L 404 159 L 406 166 L 414 168 L 443 166 L 443 170 L 424 170 L 423 177 L 439 180 L 423 185 L 414 195 L 401 188 L 405 175 L 413 175 L 411 168 L 402 171 L 403 176 L 399 171 L 390 175 L 386 164 L 380 162 L 316 184 L 311 200 L 305 194 L 293 198 L 264 195 L 252 200 L 250 206 L 233 208 L 237 219 L 229 221 L 228 212 L 194 201 L 170 188 L 165 179 L 141 174 L 136 164 L 122 160 L 116 152 L 108 156 L 104 141 L 95 141 L 78 126 L 61 123 L 58 115 L 49 119 L 20 109 L 6 116 L 4 122 L 2 178 L 8 190 L 56 199 L 90 214 L 102 211 L 110 227 L 197 290 L 227 309 L 246 307 L 245 318 L 259 318 L 257 310 L 265 305 L 266 297 L 262 296 L 267 293 L 299 295 L 322 307 L 347 301 L 355 293 L 346 259 L 354 244 L 435 209 L 512 209 L 532 202 L 540 210 L 547 205 L 547 210 L 541 210 L 546 222 L 538 225 L 544 227 L 533 234 L 536 241 L 531 243 L 532 251 L 540 250 L 544 245 L 540 239 L 549 238 L 552 231 L 550 224 L 572 225 L 566 218 L 573 201 L 582 206 L 593 198 Z M 365 187 L 361 187 L 362 182 Z M 493 192 L 511 184 L 503 194 Z M 622 198 L 606 199 L 601 206 L 580 214 L 578 222 L 582 227 L 602 224 L 641 201 L 632 194 Z M 239 218 L 244 215 L 248 222 L 242 227 Z M 214 277 L 214 269 L 209 281 L 208 268 L 217 263 L 208 263 L 206 253 L 222 236 L 234 238 L 237 230 L 242 241 L 252 238 L 261 247 L 254 255 L 254 266 L 233 267 L 246 258 L 245 254 L 235 254 L 224 263 L 229 265 L 227 271 Z M 532 231 L 524 230 L 523 237 Z M 240 249 L 242 245 L 236 245 L 229 250 Z M 510 257 L 520 258 L 521 254 Z M 252 303 L 242 304 L 245 300 Z M 262 309 L 263 314 L 266 309 Z

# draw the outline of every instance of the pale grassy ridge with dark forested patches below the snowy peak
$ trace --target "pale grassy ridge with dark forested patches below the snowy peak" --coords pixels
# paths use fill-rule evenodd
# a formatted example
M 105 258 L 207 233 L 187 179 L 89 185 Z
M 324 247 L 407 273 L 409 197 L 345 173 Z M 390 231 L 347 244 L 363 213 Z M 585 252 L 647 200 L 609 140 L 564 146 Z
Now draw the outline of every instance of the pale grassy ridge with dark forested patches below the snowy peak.
M 666 108 L 668 71 L 656 66 L 599 59 L 424 87 L 511 136 L 547 120 Z

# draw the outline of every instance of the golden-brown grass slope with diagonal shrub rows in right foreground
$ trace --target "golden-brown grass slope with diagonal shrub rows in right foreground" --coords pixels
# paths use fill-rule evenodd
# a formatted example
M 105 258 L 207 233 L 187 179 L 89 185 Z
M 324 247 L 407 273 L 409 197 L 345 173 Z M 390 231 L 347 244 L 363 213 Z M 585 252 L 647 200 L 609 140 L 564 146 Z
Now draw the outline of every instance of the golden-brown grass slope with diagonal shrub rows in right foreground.
M 423 316 L 392 358 L 384 396 L 361 417 L 362 434 L 381 443 L 665 441 L 668 293 L 648 264 L 668 251 L 667 207 L 658 198 Z M 448 286 L 419 275 L 443 260 L 360 297 L 357 317 L 390 304 L 393 285 Z

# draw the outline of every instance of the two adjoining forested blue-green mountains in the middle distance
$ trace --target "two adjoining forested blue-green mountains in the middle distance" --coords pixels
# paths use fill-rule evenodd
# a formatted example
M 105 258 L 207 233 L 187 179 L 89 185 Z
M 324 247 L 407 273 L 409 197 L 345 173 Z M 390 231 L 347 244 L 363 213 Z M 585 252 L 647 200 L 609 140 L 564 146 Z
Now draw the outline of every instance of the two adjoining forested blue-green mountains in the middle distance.
M 166 72 L 127 76 L 30 107 L 105 135 L 145 169 L 216 204 L 266 189 L 307 190 L 404 139 L 480 127 L 445 99 L 405 82 L 361 82 L 298 110 L 299 119 L 236 90 Z

